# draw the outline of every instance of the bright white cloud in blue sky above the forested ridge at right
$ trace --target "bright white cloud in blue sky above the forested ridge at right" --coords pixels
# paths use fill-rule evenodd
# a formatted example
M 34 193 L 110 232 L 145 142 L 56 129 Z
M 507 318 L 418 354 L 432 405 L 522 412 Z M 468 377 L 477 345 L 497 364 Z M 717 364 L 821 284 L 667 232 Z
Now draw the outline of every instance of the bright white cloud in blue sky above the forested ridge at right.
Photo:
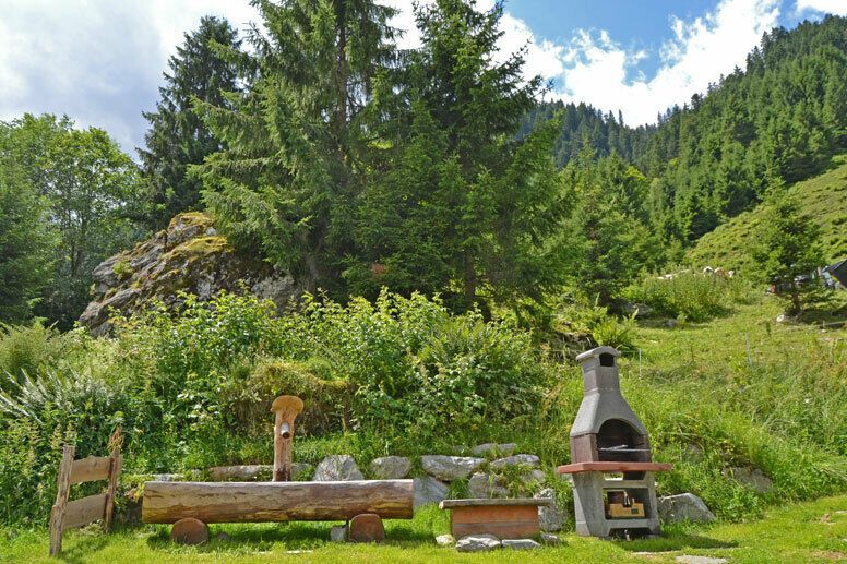
M 777 24 L 778 4 L 778 0 L 721 0 L 713 12 L 691 22 L 671 16 L 673 38 L 659 50 L 661 64 L 652 79 L 641 73 L 628 79 L 646 52 L 628 51 L 606 32 L 581 31 L 564 55 L 558 95 L 604 111 L 620 109 L 632 125 L 654 122 L 666 108 L 705 92 L 720 74 L 743 68 L 762 34 Z

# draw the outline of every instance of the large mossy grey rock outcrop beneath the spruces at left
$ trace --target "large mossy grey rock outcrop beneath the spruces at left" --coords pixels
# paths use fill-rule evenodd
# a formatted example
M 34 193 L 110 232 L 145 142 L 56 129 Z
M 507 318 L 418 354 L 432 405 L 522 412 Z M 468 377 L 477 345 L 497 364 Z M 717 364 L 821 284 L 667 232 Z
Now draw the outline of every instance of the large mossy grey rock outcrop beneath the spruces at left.
M 130 314 L 151 299 L 172 305 L 180 290 L 205 300 L 243 286 L 277 307 L 299 295 L 289 274 L 234 250 L 212 218 L 198 212 L 174 217 L 167 229 L 105 260 L 93 277 L 93 300 L 80 316 L 93 335 L 109 329 L 112 311 Z

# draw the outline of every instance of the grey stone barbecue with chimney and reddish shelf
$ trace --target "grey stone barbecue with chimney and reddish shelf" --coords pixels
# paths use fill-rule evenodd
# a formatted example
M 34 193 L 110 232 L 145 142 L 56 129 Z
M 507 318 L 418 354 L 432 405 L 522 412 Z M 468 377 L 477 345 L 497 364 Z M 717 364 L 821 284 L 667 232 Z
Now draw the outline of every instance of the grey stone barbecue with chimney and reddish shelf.
M 584 396 L 571 428 L 576 532 L 630 538 L 658 535 L 653 472 L 670 465 L 654 463 L 644 423 L 621 395 L 617 358 L 611 347 L 583 352 Z M 610 476 L 613 475 L 613 476 Z

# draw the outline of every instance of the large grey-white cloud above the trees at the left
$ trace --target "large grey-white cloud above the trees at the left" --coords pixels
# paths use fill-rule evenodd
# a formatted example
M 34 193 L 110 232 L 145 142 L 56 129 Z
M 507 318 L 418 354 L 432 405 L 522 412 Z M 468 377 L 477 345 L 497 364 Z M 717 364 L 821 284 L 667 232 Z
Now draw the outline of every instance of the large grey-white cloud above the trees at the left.
M 247 0 L 0 0 L 0 120 L 67 113 L 130 153 L 182 34 L 205 14 L 255 19 Z

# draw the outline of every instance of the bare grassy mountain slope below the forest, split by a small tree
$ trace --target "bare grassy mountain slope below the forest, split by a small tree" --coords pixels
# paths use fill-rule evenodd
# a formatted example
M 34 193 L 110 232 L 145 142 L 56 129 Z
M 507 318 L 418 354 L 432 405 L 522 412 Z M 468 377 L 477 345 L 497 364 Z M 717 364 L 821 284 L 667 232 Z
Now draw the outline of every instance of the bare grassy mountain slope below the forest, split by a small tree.
M 847 256 L 847 154 L 835 157 L 832 165 L 826 172 L 790 188 L 803 211 L 821 226 L 827 263 Z M 763 214 L 764 204 L 704 235 L 684 262 L 727 269 L 751 267 L 750 248 Z

